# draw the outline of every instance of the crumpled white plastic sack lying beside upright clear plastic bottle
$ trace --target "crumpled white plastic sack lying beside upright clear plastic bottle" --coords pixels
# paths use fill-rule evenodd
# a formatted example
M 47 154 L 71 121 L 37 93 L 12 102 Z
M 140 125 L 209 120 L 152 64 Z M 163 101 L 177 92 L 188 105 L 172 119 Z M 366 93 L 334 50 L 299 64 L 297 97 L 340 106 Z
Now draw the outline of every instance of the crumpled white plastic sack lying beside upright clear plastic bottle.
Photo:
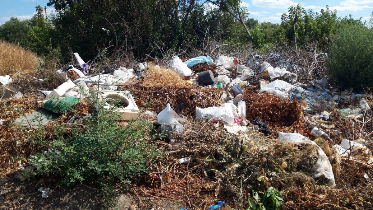
M 226 103 L 221 106 L 212 106 L 201 109 L 195 107 L 195 119 L 201 120 L 223 120 L 224 122 L 235 125 L 235 119 L 238 119 L 238 109 L 233 103 Z

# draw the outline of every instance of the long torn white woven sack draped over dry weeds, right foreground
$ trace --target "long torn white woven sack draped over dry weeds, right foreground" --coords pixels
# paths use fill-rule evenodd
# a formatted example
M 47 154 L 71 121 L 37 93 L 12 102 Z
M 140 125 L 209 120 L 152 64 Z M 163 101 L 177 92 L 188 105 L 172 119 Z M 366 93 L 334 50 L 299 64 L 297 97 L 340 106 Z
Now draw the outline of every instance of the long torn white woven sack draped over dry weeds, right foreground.
M 278 142 L 292 142 L 298 144 L 311 144 L 317 146 L 318 158 L 315 165 L 313 166 L 313 173 L 311 176 L 314 179 L 324 176 L 328 180 L 327 185 L 335 186 L 332 165 L 330 165 L 330 162 L 326 157 L 325 152 L 315 142 L 311 141 L 305 136 L 300 135 L 299 133 L 282 132 L 279 132 Z

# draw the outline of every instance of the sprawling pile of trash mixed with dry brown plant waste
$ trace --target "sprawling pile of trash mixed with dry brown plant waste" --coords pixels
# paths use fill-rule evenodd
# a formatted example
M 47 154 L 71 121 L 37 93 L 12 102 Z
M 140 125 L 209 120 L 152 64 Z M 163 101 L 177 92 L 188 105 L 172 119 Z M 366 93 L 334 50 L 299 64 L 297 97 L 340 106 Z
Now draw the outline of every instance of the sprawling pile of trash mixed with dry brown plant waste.
M 150 174 L 154 173 L 154 176 L 145 184 L 138 183 L 146 192 L 132 188 L 136 194 L 179 199 L 184 195 L 175 186 L 185 188 L 182 191 L 188 188 L 194 193 L 188 193 L 192 197 L 189 205 L 192 205 L 190 201 L 198 201 L 199 208 L 207 209 L 214 204 L 211 201 L 230 190 L 229 201 L 237 199 L 241 202 L 230 204 L 238 208 L 247 202 L 251 193 L 250 187 L 240 189 L 238 185 L 267 188 L 272 185 L 288 192 L 286 206 L 294 209 L 300 207 L 295 203 L 306 198 L 294 198 L 295 189 L 301 190 L 301 184 L 286 185 L 290 183 L 288 175 L 292 173 L 301 173 L 307 177 L 307 182 L 314 182 L 315 185 L 309 188 L 314 190 L 313 193 L 321 193 L 321 189 L 323 192 L 336 188 L 346 190 L 342 184 L 346 180 L 340 175 L 347 172 L 341 172 L 341 167 L 353 168 L 353 173 L 361 176 L 365 183 L 372 183 L 372 96 L 332 88 L 327 78 L 300 83 L 294 71 L 300 67 L 282 60 L 278 53 L 255 55 L 247 60 L 226 55 L 214 59 L 199 56 L 184 62 L 174 56 L 166 67 L 147 62 L 129 69 L 107 65 L 97 75 L 93 75 L 78 53 L 74 55 L 78 65 L 56 71 L 66 78 L 66 82 L 35 96 L 35 105 L 40 109 L 16 119 L 0 114 L 1 124 L 11 120 L 23 126 L 47 126 L 71 109 L 77 109 L 83 101 L 87 103 L 90 100 L 88 93 L 94 91 L 105 102 L 104 108 L 114 108 L 119 116 L 116 120 L 145 118 L 164 136 L 156 140 L 155 146 L 166 151 L 157 169 L 165 171 L 155 173 L 156 169 L 151 168 Z M 265 62 L 261 62 L 263 57 L 266 57 Z M 326 59 L 327 55 L 320 57 Z M 270 59 L 279 62 L 271 63 Z M 256 74 L 261 79 L 250 84 L 248 78 Z M 1 77 L 1 83 L 7 86 L 12 80 L 7 75 Z M 7 89 L 0 100 L 6 104 L 22 97 L 25 96 L 21 91 Z M 116 99 L 123 102 L 118 104 Z M 11 112 L 7 106 L 1 109 Z M 111 116 L 114 114 L 107 115 Z M 35 117 L 40 118 L 37 124 L 30 123 Z M 83 121 L 69 118 L 65 123 Z M 295 152 L 294 148 L 299 152 L 301 148 L 313 148 L 309 152 L 310 161 L 290 167 L 289 164 L 294 163 L 286 161 L 291 154 L 276 149 L 281 145 L 291 145 L 292 152 Z M 271 156 L 272 151 L 276 152 L 276 157 Z M 305 163 L 311 165 L 305 166 Z M 25 180 L 22 175 L 28 170 L 35 168 L 28 164 L 18 166 L 15 178 Z M 162 179 L 157 178 L 160 176 Z M 283 182 L 279 181 L 281 179 Z M 152 184 L 149 186 L 148 183 Z M 354 190 L 359 184 L 361 182 L 355 180 L 349 183 Z M 198 193 L 194 189 L 198 189 Z M 240 190 L 241 195 L 237 193 Z M 43 192 L 43 197 L 53 193 L 49 188 L 39 191 Z M 172 193 L 165 195 L 163 192 L 166 191 Z M 356 196 L 362 194 L 357 189 L 354 192 Z M 303 200 L 308 202 L 307 207 L 327 205 L 308 200 Z M 325 202 L 332 200 L 332 195 L 325 198 Z M 226 205 L 219 202 L 210 209 Z M 356 205 L 364 207 L 365 203 Z M 338 204 L 334 202 L 333 205 Z

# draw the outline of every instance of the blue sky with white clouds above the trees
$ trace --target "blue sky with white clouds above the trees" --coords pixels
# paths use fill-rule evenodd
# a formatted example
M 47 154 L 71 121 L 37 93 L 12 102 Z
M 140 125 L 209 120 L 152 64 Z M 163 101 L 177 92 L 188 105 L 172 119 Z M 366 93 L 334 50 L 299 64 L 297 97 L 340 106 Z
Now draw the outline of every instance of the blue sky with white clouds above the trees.
M 0 24 L 10 17 L 21 20 L 31 18 L 35 13 L 35 6 L 46 6 L 48 0 L 0 0 Z M 288 11 L 291 5 L 301 3 L 306 10 L 319 10 L 329 5 L 336 9 L 339 16 L 352 15 L 354 18 L 369 19 L 373 11 L 373 0 L 242 0 L 241 5 L 247 7 L 250 18 L 259 22 L 280 22 L 281 14 Z M 47 7 L 47 13 L 53 12 L 53 7 Z

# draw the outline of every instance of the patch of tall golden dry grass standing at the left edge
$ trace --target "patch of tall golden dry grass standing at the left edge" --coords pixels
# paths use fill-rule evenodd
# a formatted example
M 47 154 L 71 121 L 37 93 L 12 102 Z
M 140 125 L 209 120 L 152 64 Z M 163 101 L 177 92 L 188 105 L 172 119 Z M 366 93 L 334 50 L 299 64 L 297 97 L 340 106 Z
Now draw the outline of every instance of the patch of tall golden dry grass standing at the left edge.
M 37 55 L 17 44 L 0 40 L 0 75 L 13 74 L 15 70 L 33 70 L 38 66 Z

